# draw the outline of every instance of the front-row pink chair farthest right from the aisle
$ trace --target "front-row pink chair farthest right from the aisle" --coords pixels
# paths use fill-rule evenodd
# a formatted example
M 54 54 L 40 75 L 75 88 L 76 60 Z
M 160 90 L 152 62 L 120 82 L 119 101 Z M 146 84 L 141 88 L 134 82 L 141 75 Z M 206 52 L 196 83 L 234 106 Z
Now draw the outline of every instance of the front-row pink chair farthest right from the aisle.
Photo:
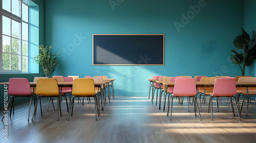
M 236 79 L 235 78 L 218 78 L 215 80 L 214 83 L 214 92 L 210 94 L 210 103 L 211 105 L 211 121 L 213 120 L 213 114 L 212 114 L 212 98 L 214 97 L 229 97 L 230 98 L 230 104 L 232 106 L 232 111 L 234 114 L 234 108 L 233 108 L 233 102 L 232 98 L 234 98 L 234 103 L 236 104 L 239 120 L 241 121 L 241 117 L 239 114 L 237 101 L 234 96 L 237 94 L 237 88 L 236 88 Z M 209 108 L 208 108 L 209 112 Z

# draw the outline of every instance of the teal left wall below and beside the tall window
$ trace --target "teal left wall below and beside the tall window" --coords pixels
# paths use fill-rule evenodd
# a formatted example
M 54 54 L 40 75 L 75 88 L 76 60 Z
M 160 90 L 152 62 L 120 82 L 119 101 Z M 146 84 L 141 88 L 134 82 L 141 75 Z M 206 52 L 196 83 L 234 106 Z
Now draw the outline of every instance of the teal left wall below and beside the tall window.
M 38 22 L 37 26 L 39 25 L 39 37 L 36 37 L 37 39 L 35 39 L 35 37 L 30 37 L 30 38 L 32 38 L 33 41 L 37 41 L 37 43 L 39 42 L 39 43 L 44 44 L 44 1 L 36 0 L 33 2 L 39 6 L 39 21 L 37 20 L 37 22 Z M 30 8 L 30 10 L 32 10 L 32 9 L 33 9 L 33 11 L 36 10 L 35 7 Z M 35 13 L 37 13 L 37 12 L 34 12 L 34 14 Z M 34 22 L 35 21 L 33 21 L 33 24 L 35 24 Z M 38 34 L 38 29 L 33 32 L 36 32 Z M 38 41 L 38 39 L 39 39 L 39 41 Z M 38 51 L 38 49 L 37 49 L 37 51 Z M 32 57 L 32 55 L 30 55 L 30 56 Z M 35 66 L 35 65 L 33 65 L 33 66 Z M 36 65 L 36 66 L 38 66 L 38 65 Z M 35 70 L 37 70 L 37 73 L 38 73 L 38 68 L 33 69 L 32 71 L 35 71 Z M 0 74 L 0 82 L 8 82 L 10 78 L 28 78 L 29 81 L 32 82 L 34 77 L 38 77 L 38 76 L 43 76 L 41 69 L 39 69 L 39 74 Z M 1 94 L 0 108 L 2 108 L 4 106 L 4 98 L 3 98 L 4 97 L 4 85 L 0 85 L 0 94 Z M 18 98 L 18 99 L 15 99 L 15 103 L 24 102 L 24 100 L 26 100 L 26 99 Z M 29 100 L 29 99 L 27 99 L 27 100 Z

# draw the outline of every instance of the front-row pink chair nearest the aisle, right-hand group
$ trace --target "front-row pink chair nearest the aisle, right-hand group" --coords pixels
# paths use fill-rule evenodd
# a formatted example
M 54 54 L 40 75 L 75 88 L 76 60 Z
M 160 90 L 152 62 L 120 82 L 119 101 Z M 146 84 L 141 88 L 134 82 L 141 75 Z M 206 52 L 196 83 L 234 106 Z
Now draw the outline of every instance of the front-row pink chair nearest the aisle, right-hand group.
M 199 113 L 199 117 L 200 117 L 200 121 L 201 119 L 201 115 L 200 115 L 200 111 L 198 108 L 198 103 L 197 103 L 197 86 L 196 86 L 196 80 L 195 79 L 176 79 L 175 80 L 175 85 L 174 85 L 174 92 L 173 92 L 173 96 L 172 96 L 172 106 L 170 108 L 170 120 L 172 120 L 172 110 L 173 110 L 173 99 L 177 97 L 193 97 L 193 101 L 194 101 L 194 107 L 195 107 L 195 115 L 197 116 L 197 109 L 198 109 L 198 113 Z M 187 104 L 188 106 L 189 104 Z M 197 106 L 197 109 L 196 109 Z

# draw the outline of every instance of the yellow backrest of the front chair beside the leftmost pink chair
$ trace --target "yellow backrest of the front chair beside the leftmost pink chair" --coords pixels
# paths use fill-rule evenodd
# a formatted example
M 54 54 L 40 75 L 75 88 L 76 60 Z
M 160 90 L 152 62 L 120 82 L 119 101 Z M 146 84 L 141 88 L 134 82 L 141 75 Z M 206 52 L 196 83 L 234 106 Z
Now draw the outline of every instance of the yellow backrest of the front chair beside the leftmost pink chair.
M 38 79 L 36 83 L 36 94 L 38 96 L 58 96 L 58 83 L 54 78 Z

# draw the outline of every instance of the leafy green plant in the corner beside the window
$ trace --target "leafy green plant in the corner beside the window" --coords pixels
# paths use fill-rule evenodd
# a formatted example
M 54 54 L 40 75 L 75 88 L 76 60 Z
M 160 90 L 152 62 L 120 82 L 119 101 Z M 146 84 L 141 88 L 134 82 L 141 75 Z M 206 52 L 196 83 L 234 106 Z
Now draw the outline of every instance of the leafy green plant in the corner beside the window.
M 34 57 L 36 63 L 38 63 L 44 71 L 46 77 L 51 78 L 55 67 L 58 65 L 56 56 L 57 54 L 51 53 L 52 45 L 50 47 L 45 45 L 39 45 L 39 55 Z

